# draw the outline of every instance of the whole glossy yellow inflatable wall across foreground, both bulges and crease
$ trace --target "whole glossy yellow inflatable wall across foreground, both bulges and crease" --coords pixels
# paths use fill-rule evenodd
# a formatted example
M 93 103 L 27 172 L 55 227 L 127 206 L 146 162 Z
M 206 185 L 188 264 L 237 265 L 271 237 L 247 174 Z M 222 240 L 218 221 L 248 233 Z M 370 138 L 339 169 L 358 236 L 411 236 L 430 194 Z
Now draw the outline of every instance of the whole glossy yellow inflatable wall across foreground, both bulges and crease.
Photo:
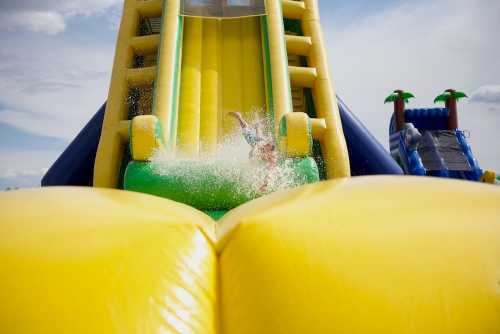
M 125 191 L 0 193 L 0 332 L 500 332 L 498 187 L 344 179 L 217 224 Z

